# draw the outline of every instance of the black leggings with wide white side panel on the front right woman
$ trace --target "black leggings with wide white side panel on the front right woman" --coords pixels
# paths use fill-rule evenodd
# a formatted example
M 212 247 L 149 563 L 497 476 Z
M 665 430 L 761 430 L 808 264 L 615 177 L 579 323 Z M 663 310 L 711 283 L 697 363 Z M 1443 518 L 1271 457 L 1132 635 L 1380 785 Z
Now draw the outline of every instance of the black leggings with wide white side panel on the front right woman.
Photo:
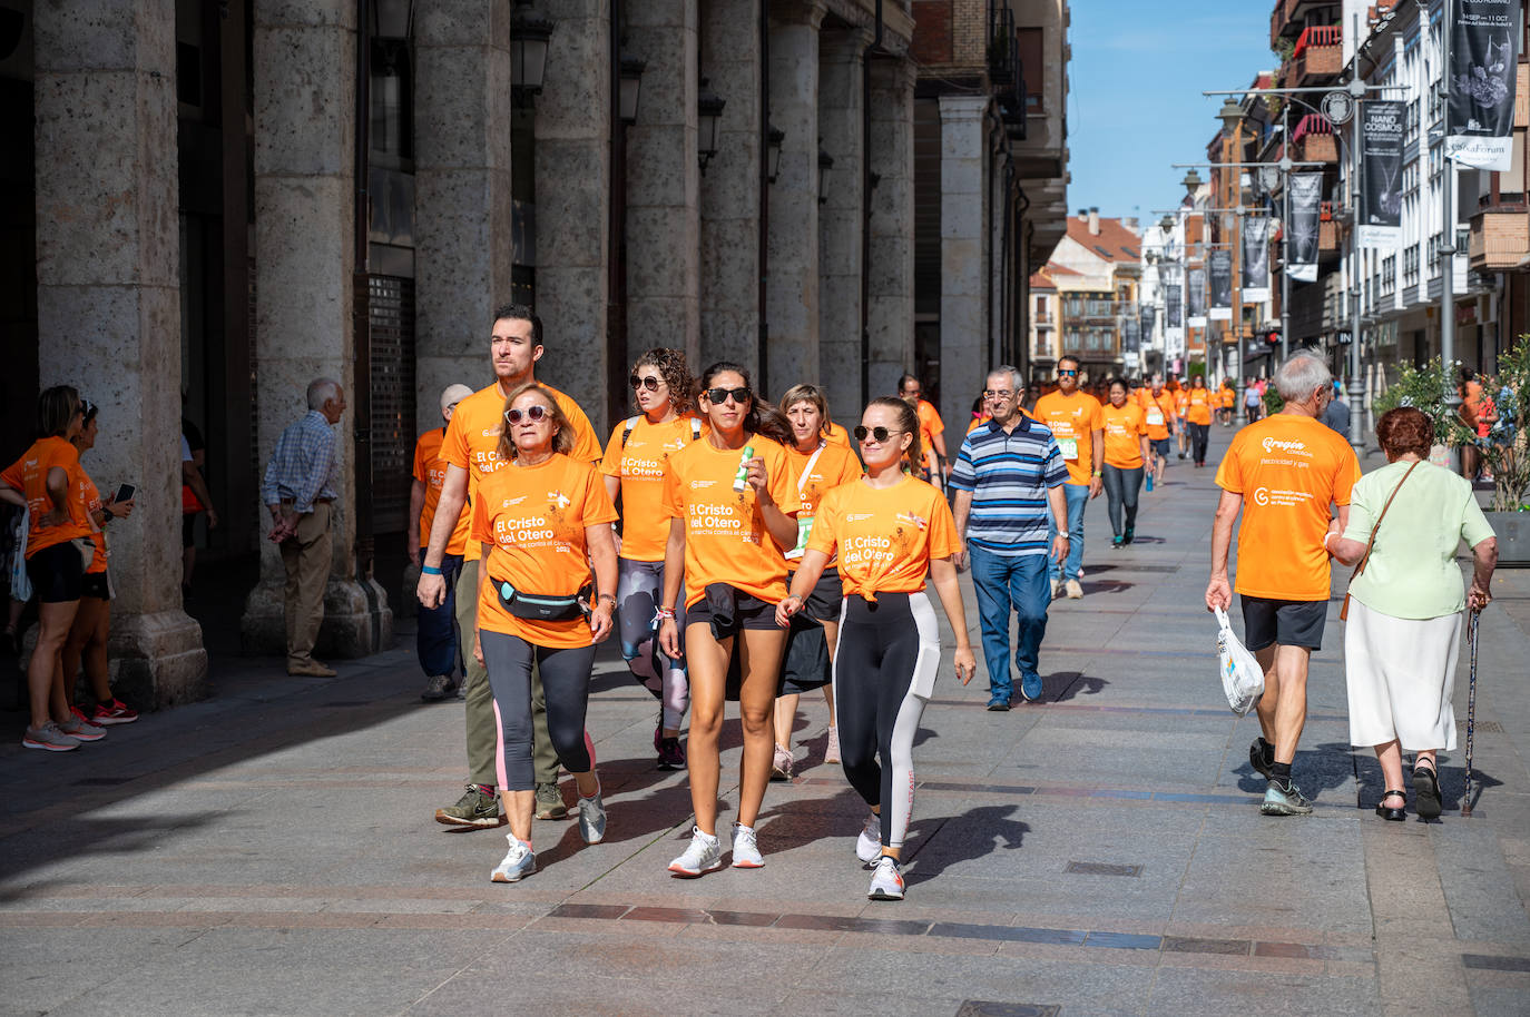
M 920 593 L 845 598 L 834 655 L 834 717 L 845 777 L 881 806 L 881 843 L 903 847 L 913 815 L 913 736 L 935 690 L 941 636 Z M 880 760 L 880 763 L 878 763 Z

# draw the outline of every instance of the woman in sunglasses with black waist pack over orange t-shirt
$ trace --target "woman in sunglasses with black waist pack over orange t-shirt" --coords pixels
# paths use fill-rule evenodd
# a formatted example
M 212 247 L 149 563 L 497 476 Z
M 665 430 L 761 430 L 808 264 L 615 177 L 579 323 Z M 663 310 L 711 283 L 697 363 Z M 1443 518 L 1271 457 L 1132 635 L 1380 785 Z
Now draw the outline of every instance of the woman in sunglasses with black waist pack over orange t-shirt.
M 509 850 L 491 873 L 517 882 L 537 870 L 531 812 L 531 665 L 542 671 L 548 734 L 578 785 L 586 844 L 606 835 L 595 749 L 584 734 L 595 645 L 610 635 L 617 598 L 617 509 L 592 463 L 569 459 L 574 428 L 552 393 L 525 382 L 505 399 L 499 456 L 473 497 L 471 538 L 483 546 L 473 656 L 494 693 L 496 768 Z M 595 567 L 592 595 L 591 564 Z

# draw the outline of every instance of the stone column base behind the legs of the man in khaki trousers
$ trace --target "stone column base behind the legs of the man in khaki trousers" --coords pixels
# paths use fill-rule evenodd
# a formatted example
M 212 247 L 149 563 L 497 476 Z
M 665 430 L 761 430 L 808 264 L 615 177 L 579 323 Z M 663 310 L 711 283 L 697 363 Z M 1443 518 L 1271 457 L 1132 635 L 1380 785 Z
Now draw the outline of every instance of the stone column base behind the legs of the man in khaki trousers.
M 283 583 L 260 583 L 245 601 L 239 625 L 246 656 L 286 658 Z M 318 629 L 314 656 L 353 659 L 393 645 L 393 610 L 376 580 L 330 578 L 324 587 L 324 624 Z

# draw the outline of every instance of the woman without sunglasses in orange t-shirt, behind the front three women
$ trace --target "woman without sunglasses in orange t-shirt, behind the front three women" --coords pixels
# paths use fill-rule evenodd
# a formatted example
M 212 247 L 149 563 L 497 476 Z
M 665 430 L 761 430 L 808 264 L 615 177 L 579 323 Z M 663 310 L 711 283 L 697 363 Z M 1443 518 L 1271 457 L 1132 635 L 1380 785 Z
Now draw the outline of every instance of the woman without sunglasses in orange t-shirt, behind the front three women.
M 780 411 L 791 422 L 793 445 L 786 448 L 791 460 L 791 473 L 797 483 L 797 499 L 802 503 L 797 512 L 797 544 L 786 552 L 786 569 L 796 572 L 802 554 L 808 549 L 808 535 L 812 532 L 812 517 L 823 496 L 840 486 L 858 480 L 861 474 L 860 459 L 849 445 L 829 442 L 829 401 L 817 385 L 794 385 L 780 399 Z M 782 677 L 780 696 L 776 699 L 776 755 L 771 760 L 771 780 L 791 780 L 791 729 L 797 723 L 797 702 L 802 693 L 812 688 L 823 688 L 823 700 L 829 707 L 829 743 L 823 749 L 825 763 L 840 762 L 840 731 L 834 725 L 834 641 L 840 629 L 840 604 L 845 592 L 840 589 L 840 573 L 834 564 L 823 570 L 812 592 L 808 593 L 808 610 L 803 621 L 797 622 L 786 638 L 786 664 Z M 799 674 L 791 665 L 789 647 L 802 635 L 802 625 L 823 629 L 823 642 L 828 650 L 828 664 L 822 674 Z M 811 635 L 811 633 L 809 633 Z M 814 668 L 817 670 L 817 668 Z

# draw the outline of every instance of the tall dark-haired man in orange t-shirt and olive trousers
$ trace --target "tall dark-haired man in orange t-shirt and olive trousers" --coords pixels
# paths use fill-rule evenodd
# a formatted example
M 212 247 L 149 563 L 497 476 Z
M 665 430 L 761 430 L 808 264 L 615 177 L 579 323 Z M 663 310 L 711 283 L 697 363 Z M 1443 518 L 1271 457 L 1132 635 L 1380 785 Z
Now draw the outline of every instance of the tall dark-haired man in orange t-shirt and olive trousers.
M 424 607 L 436 607 L 445 601 L 447 583 L 442 558 L 447 543 L 462 520 L 468 500 L 477 492 L 482 477 L 508 463 L 499 456 L 499 437 L 505 427 L 505 398 L 517 385 L 536 381 L 536 366 L 542 359 L 542 320 L 525 304 L 506 304 L 494 312 L 494 329 L 490 335 L 490 361 L 494 367 L 494 384 L 462 399 L 451 413 L 447 434 L 442 439 L 441 456 L 447 462 L 447 477 L 441 485 L 441 500 L 436 503 L 436 518 L 430 526 L 430 543 L 419 569 L 416 590 Z M 589 418 L 569 396 L 543 385 L 552 393 L 563 416 L 574 430 L 574 451 L 569 459 L 598 462 L 600 439 Z M 471 515 L 468 517 L 471 523 Z M 456 583 L 457 627 L 471 632 L 477 618 L 479 603 L 479 557 L 482 547 L 471 540 L 464 552 L 462 573 Z M 468 788 L 456 804 L 436 809 L 436 821 L 448 826 L 500 826 L 503 814 L 494 794 L 496 729 L 494 694 L 488 685 L 488 671 L 470 655 L 465 661 L 467 677 L 462 682 L 467 700 L 468 742 Z M 537 765 L 537 818 L 560 820 L 568 815 L 563 792 L 558 791 L 558 759 L 548 737 L 548 714 L 540 707 L 542 679 L 532 673 L 534 710 L 532 751 Z

